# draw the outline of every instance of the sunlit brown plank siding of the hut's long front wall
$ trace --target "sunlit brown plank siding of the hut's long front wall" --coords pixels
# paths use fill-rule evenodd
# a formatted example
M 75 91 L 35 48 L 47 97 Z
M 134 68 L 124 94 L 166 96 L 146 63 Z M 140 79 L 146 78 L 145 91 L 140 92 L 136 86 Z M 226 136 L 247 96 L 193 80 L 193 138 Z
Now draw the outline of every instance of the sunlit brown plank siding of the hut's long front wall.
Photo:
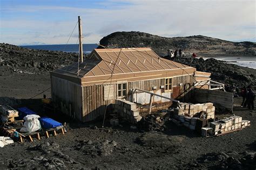
M 178 86 L 179 83 L 182 83 L 185 85 L 186 83 L 193 84 L 194 76 L 193 75 L 185 75 L 185 76 L 177 76 L 173 77 L 173 86 Z M 147 91 L 151 91 L 153 87 L 157 87 L 157 90 L 160 89 L 160 86 L 165 85 L 165 79 L 154 79 L 154 80 L 144 80 L 144 81 L 134 81 L 134 82 L 127 82 L 122 81 L 120 83 L 127 83 L 127 100 L 129 98 L 129 95 L 131 95 L 130 89 L 143 89 Z M 84 86 L 82 87 L 82 94 L 83 94 L 83 122 L 87 121 L 93 121 L 99 116 L 103 116 L 105 113 L 106 106 L 114 103 L 117 99 L 117 83 L 114 84 L 113 89 L 111 89 L 111 93 L 109 96 L 110 100 L 106 100 L 106 95 L 104 94 L 104 87 L 106 89 L 110 89 L 109 84 L 96 84 L 94 86 Z M 183 93 L 183 85 L 181 85 L 181 93 Z M 105 90 L 106 91 L 106 90 Z M 163 109 L 163 107 L 169 107 L 171 102 L 169 103 L 163 103 L 163 104 L 157 104 L 158 107 L 155 107 L 152 109 L 153 111 L 156 111 L 157 109 Z

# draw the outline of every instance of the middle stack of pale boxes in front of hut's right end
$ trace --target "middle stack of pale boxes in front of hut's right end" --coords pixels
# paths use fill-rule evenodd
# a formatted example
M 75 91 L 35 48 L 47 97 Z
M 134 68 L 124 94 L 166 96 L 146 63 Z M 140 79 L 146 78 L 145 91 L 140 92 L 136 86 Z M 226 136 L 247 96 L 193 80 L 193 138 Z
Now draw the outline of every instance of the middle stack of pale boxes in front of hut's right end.
M 207 113 L 206 119 L 213 118 L 215 115 L 215 107 L 213 103 L 203 103 L 203 104 L 191 104 L 191 103 L 180 103 L 181 109 L 174 109 L 174 114 L 176 115 L 186 115 L 193 117 L 200 111 L 205 111 Z

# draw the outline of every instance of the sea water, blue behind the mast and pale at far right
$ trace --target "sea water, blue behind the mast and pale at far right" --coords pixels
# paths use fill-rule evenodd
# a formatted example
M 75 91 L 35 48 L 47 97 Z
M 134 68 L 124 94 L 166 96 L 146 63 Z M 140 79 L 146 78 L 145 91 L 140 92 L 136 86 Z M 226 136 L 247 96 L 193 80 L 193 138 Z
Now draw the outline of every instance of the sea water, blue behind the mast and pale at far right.
M 21 46 L 24 48 L 31 49 L 44 49 L 49 51 L 63 51 L 63 52 L 71 52 L 78 53 L 78 44 L 60 44 L 60 45 L 29 45 L 29 46 Z M 83 52 L 85 54 L 90 54 L 91 51 L 97 48 L 97 44 L 83 44 Z M 204 58 L 205 60 L 208 58 Z M 228 61 L 228 63 L 233 63 L 234 65 L 249 67 L 256 69 L 256 56 L 219 56 L 214 57 L 214 59 Z

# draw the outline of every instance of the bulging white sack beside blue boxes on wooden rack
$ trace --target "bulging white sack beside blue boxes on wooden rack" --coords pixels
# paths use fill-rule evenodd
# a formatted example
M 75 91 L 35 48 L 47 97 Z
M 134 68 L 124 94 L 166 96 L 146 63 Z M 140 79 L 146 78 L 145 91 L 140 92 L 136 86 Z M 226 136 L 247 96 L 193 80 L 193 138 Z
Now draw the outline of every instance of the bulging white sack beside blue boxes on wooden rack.
M 23 119 L 25 121 L 21 132 L 35 132 L 41 129 L 41 124 L 38 120 L 38 115 L 27 115 Z

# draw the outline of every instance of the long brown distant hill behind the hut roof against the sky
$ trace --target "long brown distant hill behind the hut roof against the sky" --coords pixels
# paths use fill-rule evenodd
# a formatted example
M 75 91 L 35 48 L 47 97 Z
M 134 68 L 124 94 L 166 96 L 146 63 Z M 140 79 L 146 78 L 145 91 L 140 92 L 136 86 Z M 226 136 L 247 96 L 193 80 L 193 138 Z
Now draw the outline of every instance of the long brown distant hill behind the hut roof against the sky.
M 167 49 L 182 49 L 186 54 L 203 56 L 256 56 L 256 43 L 232 42 L 206 36 L 160 37 L 144 32 L 114 32 L 100 40 L 108 48 L 151 47 L 159 55 Z

